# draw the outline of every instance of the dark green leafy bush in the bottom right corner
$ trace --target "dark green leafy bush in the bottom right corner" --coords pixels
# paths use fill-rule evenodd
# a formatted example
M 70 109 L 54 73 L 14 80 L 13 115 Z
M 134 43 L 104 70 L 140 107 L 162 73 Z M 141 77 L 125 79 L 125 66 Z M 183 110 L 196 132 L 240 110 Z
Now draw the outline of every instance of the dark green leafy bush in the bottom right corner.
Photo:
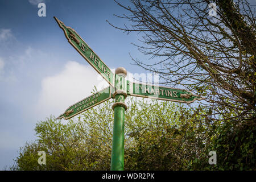
M 214 140 L 220 170 L 256 170 L 256 127 L 224 123 Z

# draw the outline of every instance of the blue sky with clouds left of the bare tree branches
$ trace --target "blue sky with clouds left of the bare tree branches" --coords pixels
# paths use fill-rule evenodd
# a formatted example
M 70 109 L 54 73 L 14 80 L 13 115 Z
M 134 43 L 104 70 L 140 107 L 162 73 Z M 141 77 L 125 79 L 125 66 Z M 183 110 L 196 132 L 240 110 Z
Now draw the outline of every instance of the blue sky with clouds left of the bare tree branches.
M 38 3 L 46 3 L 46 17 Z M 114 1 L 0 0 L 0 169 L 13 164 L 19 147 L 34 140 L 36 122 L 56 117 L 90 95 L 93 86 L 107 86 L 68 43 L 53 16 L 74 28 L 109 68 L 131 65 L 129 52 L 143 58 L 127 35 L 106 22 L 122 26 L 125 13 Z

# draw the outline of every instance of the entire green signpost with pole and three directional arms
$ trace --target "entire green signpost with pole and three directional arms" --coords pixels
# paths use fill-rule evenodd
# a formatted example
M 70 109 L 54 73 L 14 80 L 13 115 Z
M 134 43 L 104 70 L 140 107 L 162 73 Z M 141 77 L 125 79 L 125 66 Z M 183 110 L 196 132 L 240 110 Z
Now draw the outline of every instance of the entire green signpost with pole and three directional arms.
M 115 103 L 112 106 L 112 109 L 114 110 L 113 143 L 110 167 L 112 171 L 122 171 L 124 169 L 124 122 L 125 110 L 127 109 L 125 98 L 127 96 L 146 97 L 184 103 L 191 103 L 196 100 L 200 101 L 204 99 L 203 97 L 183 89 L 130 82 L 125 79 L 127 75 L 125 68 L 115 69 L 114 74 L 100 57 L 98 57 L 84 40 L 82 40 L 79 34 L 73 30 L 73 28 L 65 26 L 59 19 L 56 17 L 54 18 L 60 28 L 63 29 L 68 42 L 110 84 L 108 88 L 94 93 L 92 96 L 86 97 L 84 100 L 69 106 L 68 109 L 56 119 L 70 119 L 110 98 L 114 98 Z

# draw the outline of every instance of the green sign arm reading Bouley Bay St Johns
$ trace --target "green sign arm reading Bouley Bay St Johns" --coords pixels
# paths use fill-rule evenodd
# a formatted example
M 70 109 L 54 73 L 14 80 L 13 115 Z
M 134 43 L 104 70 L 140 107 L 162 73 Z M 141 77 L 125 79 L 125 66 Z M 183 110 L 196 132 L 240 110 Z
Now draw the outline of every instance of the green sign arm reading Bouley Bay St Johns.
M 68 109 L 65 110 L 65 112 L 56 119 L 70 119 L 77 114 L 80 114 L 94 106 L 97 106 L 98 104 L 101 104 L 104 101 L 109 100 L 113 97 L 112 90 L 112 86 L 109 86 L 108 88 L 105 88 L 100 92 L 92 94 L 92 96 L 84 98 L 76 104 L 69 106 Z

